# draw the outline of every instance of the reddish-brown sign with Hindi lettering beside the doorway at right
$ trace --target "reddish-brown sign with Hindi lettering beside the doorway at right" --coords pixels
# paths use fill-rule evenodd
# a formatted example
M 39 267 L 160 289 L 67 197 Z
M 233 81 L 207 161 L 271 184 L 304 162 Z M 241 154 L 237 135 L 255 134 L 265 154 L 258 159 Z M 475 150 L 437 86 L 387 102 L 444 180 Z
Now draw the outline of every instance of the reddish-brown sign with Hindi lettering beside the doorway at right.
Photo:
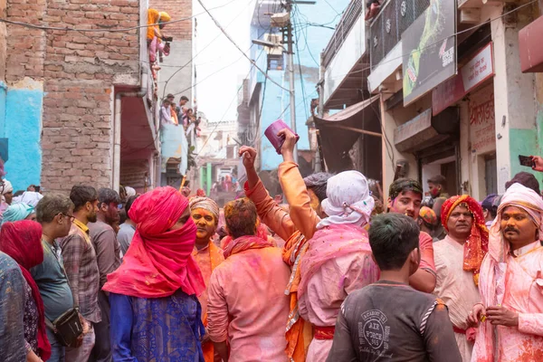
M 496 149 L 496 117 L 493 86 L 472 95 L 469 103 L 472 152 L 482 154 Z

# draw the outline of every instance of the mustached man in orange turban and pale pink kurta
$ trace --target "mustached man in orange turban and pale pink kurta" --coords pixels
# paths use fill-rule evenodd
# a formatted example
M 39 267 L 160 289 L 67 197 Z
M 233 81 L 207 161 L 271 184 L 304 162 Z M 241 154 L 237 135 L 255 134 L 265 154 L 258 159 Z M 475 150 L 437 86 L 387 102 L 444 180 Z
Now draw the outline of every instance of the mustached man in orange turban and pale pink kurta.
M 433 244 L 437 281 L 435 294 L 449 308 L 454 338 L 462 361 L 472 360 L 475 330 L 466 322 L 479 302 L 479 270 L 488 252 L 489 232 L 481 205 L 468 195 L 452 196 L 443 204 L 442 224 L 447 236 Z

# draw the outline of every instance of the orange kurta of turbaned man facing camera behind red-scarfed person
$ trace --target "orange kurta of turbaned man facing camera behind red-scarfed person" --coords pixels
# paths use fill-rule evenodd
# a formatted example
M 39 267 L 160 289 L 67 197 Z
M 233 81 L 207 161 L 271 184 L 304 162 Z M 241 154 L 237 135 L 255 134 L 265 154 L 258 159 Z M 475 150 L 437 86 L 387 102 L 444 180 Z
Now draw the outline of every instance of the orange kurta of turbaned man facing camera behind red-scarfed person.
M 195 248 L 192 253 L 196 263 L 202 271 L 205 281 L 205 291 L 198 297 L 200 304 L 202 305 L 202 322 L 207 327 L 207 287 L 209 286 L 209 280 L 214 269 L 224 262 L 223 250 L 217 247 L 213 242 L 209 242 L 208 246 L 203 249 L 197 250 Z M 209 341 L 202 344 L 204 350 L 205 362 L 214 362 L 214 348 L 213 342 Z

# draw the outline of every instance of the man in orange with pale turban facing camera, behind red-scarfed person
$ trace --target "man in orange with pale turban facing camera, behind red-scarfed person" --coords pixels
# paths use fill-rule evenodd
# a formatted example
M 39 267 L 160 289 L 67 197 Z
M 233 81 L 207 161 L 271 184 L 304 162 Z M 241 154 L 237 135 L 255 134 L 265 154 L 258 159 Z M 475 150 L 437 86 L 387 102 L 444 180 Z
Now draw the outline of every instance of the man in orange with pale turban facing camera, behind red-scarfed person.
M 200 267 L 205 281 L 205 291 L 198 300 L 202 305 L 202 322 L 207 328 L 207 287 L 214 269 L 224 262 L 223 250 L 216 246 L 212 239 L 219 224 L 219 205 L 207 197 L 194 197 L 189 205 L 191 216 L 196 224 L 196 243 L 192 256 Z M 214 346 L 207 334 L 202 341 L 202 349 L 205 362 L 213 362 Z

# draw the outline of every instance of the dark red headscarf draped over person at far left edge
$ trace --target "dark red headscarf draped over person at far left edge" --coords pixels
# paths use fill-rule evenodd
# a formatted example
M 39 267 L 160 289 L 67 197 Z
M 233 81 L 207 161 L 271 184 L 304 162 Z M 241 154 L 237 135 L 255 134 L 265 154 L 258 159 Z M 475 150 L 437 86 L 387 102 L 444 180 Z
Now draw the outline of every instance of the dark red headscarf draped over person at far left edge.
M 43 262 L 42 225 L 29 220 L 5 223 L 0 232 L 0 250 L 19 264 L 24 280 L 32 290 L 38 310 L 38 356 L 44 361 L 51 357 L 51 345 L 45 329 L 45 310 L 40 290 L 29 269 Z

